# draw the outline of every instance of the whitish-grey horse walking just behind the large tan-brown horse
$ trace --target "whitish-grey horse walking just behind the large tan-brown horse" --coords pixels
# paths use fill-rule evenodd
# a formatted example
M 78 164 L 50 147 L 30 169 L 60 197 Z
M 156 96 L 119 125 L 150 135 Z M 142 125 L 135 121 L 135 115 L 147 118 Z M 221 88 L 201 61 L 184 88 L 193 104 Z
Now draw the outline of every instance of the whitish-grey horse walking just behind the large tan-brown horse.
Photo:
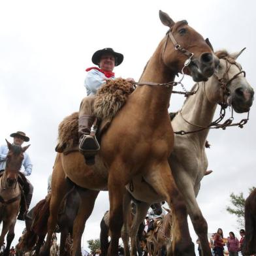
M 182 110 L 172 120 L 174 131 L 190 132 L 202 129 L 197 133 L 175 135 L 174 150 L 168 160 L 178 189 L 184 197 L 195 232 L 199 236 L 202 251 L 207 256 L 212 255 L 207 238 L 208 227 L 196 200 L 200 181 L 208 173 L 206 171 L 208 161 L 205 144 L 209 129 L 206 127 L 212 123 L 218 103 L 229 104 L 238 113 L 248 112 L 253 103 L 253 89 L 243 76 L 245 72 L 235 61 L 241 52 L 238 54 L 227 54 L 225 51 L 217 52 L 217 56 L 220 58 L 218 71 L 207 82 L 200 82 L 197 85 L 199 86 L 197 93 L 187 98 Z M 128 193 L 125 195 L 124 213 L 129 212 L 127 208 L 129 200 L 131 200 L 130 194 L 142 202 L 137 207 L 137 214 L 130 232 L 128 232 L 128 225 L 124 224 L 123 236 L 126 234 L 128 241 L 128 233 L 130 234 L 131 255 L 136 255 L 135 238 L 138 225 L 146 216 L 149 205 L 163 199 L 155 193 L 153 187 L 144 182 L 143 176 L 137 176 L 132 183 L 133 189 L 131 189 L 131 185 L 126 187 Z M 174 231 L 175 227 L 172 229 L 172 232 Z M 173 233 L 172 235 L 175 236 Z M 126 251 L 126 255 L 129 255 L 129 251 Z

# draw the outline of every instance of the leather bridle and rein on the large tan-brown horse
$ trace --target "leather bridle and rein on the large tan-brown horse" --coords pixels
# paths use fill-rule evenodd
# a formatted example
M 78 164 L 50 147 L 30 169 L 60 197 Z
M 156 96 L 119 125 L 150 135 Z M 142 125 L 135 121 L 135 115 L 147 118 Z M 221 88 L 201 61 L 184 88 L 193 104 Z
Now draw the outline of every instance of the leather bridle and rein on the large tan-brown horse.
M 167 40 L 165 40 L 165 46 L 163 48 L 163 52 L 162 52 L 162 56 L 165 54 L 165 49 L 167 48 L 167 42 L 168 42 L 168 38 L 170 38 L 170 40 L 172 41 L 172 44 L 174 44 L 174 49 L 180 51 L 182 54 L 185 54 L 185 56 L 187 56 L 188 58 L 185 60 L 184 62 L 184 67 L 182 67 L 182 78 L 178 81 L 172 81 L 172 82 L 167 82 L 167 83 L 155 83 L 155 82 L 133 82 L 133 84 L 135 86 L 161 86 L 164 88 L 172 88 L 172 86 L 178 86 L 178 84 L 180 84 L 182 86 L 182 88 L 184 89 L 184 91 L 172 91 L 172 93 L 178 93 L 178 94 L 184 94 L 185 97 L 189 96 L 189 95 L 193 95 L 196 93 L 196 91 L 187 91 L 184 87 L 184 85 L 182 84 L 182 80 L 184 79 L 184 69 L 185 67 L 187 67 L 190 63 L 191 63 L 191 58 L 193 57 L 193 52 L 189 52 L 187 49 L 183 48 L 180 44 L 178 44 L 178 42 L 176 42 L 174 36 L 172 35 L 172 32 L 169 30 L 167 32 Z

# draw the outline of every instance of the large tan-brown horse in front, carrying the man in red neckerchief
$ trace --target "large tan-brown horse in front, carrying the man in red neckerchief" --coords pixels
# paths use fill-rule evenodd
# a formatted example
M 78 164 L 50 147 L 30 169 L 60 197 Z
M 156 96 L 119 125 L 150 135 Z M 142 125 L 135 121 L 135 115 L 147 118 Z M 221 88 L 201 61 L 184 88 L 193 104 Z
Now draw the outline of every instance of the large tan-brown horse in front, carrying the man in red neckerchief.
M 95 191 L 109 191 L 111 242 L 108 255 L 117 255 L 123 224 L 125 185 L 138 174 L 172 208 L 176 229 L 172 251 L 175 255 L 194 254 L 185 205 L 180 204 L 167 161 L 174 138 L 168 106 L 172 81 L 178 72 L 191 75 L 195 81 L 207 80 L 214 73 L 218 59 L 208 43 L 187 22 L 175 23 L 168 14 L 161 11 L 159 16 L 161 22 L 169 28 L 168 33 L 144 69 L 140 78 L 144 86 L 135 89 L 102 136 L 101 151 L 95 159 L 95 165 L 87 166 L 79 152 L 57 154 L 52 176 L 48 236 L 41 255 L 48 255 L 49 252 L 57 212 L 65 195 L 66 176 L 80 187 L 91 189 L 88 190 L 87 209 L 85 212 L 81 210 L 83 214 L 86 213 L 86 219 L 91 214 L 97 197 Z M 74 230 L 80 230 L 81 223 L 85 223 L 84 216 L 77 218 L 77 221 L 78 219 L 80 224 L 76 226 L 75 221 Z

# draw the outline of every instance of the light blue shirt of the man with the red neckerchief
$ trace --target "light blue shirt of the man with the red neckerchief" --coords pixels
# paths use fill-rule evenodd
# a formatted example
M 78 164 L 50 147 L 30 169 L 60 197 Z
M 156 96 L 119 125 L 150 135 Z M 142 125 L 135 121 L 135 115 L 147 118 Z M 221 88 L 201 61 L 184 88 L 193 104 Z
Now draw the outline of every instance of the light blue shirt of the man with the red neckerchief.
M 91 69 L 87 72 L 86 79 L 84 80 L 84 87 L 86 88 L 87 95 L 95 95 L 97 89 L 108 79 L 114 79 L 114 76 L 111 78 L 106 78 L 103 72 L 98 71 L 97 69 Z

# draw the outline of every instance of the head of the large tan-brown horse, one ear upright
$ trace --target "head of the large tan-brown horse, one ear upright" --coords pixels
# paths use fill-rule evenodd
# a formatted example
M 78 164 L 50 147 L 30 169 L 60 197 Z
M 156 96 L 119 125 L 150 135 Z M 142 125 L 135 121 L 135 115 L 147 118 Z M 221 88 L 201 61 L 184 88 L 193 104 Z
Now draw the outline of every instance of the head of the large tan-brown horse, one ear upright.
M 162 57 L 165 65 L 178 73 L 182 71 L 185 61 L 191 59 L 184 73 L 191 75 L 195 82 L 206 81 L 214 74 L 219 64 L 209 40 L 204 40 L 185 20 L 175 23 L 161 10 L 159 17 L 161 22 L 169 27 L 163 45 Z

